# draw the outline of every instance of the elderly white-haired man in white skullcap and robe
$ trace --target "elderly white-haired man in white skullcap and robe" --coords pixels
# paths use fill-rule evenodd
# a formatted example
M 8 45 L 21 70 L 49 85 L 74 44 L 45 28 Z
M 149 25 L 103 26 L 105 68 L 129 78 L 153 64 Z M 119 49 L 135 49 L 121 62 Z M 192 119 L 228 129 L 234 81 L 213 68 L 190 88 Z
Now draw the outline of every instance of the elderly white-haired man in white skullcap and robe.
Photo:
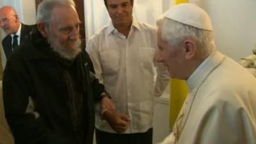
M 173 131 L 161 144 L 255 144 L 256 79 L 216 50 L 209 15 L 195 4 L 179 4 L 157 26 L 157 60 L 189 86 Z

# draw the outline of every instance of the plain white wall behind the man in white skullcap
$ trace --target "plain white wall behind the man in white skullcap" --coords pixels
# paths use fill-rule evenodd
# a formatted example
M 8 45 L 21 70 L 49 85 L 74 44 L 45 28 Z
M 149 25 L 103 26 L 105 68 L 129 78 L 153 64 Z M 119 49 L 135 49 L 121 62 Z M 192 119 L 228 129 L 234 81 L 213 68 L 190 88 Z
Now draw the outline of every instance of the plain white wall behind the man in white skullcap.
M 216 45 L 221 52 L 240 60 L 256 44 L 255 0 L 198 0 L 212 18 Z

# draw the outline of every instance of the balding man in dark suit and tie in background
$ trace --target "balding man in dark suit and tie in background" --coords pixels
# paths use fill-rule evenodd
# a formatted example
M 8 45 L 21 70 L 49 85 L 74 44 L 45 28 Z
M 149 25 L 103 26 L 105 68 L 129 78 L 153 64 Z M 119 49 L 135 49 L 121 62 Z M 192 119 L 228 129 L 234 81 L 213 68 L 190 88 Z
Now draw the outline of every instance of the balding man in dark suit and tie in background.
M 0 26 L 6 33 L 6 36 L 2 41 L 6 59 L 8 59 L 10 53 L 17 47 L 17 45 L 22 44 L 26 35 L 36 28 L 35 25 L 27 26 L 22 24 L 17 12 L 12 6 L 3 6 L 0 8 Z

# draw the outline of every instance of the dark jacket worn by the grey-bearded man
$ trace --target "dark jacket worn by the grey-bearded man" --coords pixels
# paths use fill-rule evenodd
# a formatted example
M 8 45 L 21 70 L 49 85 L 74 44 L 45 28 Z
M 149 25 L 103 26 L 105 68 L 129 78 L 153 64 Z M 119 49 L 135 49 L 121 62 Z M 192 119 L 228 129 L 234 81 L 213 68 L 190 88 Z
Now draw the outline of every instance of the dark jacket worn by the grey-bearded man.
M 77 60 L 83 60 L 83 74 L 77 74 Z M 49 44 L 36 31 L 10 56 L 3 77 L 3 100 L 6 120 L 16 144 L 76 144 L 76 134 L 67 105 L 67 87 L 61 80 L 63 70 L 76 79 L 77 90 L 85 87 L 84 143 L 91 144 L 95 122 L 94 102 L 100 100 L 104 86 L 92 79 L 92 61 L 81 52 L 72 65 L 56 61 Z

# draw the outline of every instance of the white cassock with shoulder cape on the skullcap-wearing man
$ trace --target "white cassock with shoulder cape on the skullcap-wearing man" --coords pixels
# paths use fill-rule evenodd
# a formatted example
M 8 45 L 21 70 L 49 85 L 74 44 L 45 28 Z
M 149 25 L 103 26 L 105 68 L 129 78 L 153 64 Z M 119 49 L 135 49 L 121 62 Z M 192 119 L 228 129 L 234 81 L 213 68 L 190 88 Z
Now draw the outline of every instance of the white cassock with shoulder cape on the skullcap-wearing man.
M 214 52 L 189 77 L 173 132 L 161 144 L 255 144 L 256 79 Z

